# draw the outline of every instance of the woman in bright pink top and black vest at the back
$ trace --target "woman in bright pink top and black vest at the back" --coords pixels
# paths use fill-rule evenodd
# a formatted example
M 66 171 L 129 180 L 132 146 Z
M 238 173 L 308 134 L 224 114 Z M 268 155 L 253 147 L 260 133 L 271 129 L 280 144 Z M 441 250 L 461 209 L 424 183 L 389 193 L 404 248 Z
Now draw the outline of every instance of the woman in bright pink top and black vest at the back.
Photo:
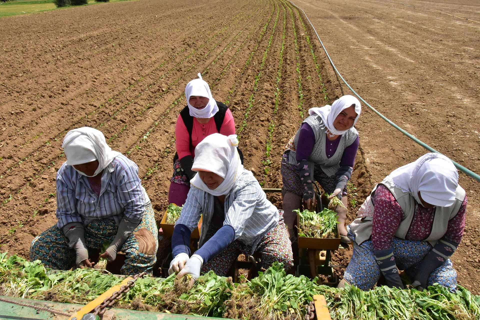
M 173 175 L 168 190 L 168 203 L 178 206 L 185 203 L 190 180 L 196 173 L 192 170 L 195 147 L 212 133 L 235 134 L 235 122 L 230 109 L 215 101 L 200 73 L 198 79 L 187 83 L 185 97 L 187 106 L 180 111 L 175 128 L 177 153 L 173 157 Z

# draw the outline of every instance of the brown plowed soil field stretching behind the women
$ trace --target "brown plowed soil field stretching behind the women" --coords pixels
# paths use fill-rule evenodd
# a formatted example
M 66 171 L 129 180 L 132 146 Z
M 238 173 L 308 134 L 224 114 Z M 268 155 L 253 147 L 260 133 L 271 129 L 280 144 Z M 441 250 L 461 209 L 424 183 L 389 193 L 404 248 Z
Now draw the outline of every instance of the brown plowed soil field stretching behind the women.
M 480 172 L 478 2 L 296 4 L 367 102 Z M 268 188 L 281 187 L 281 154 L 308 109 L 350 93 L 303 13 L 284 0 L 118 2 L 3 18 L 0 27 L 0 250 L 22 256 L 56 223 L 68 130 L 97 128 L 135 161 L 160 219 L 183 91 L 198 72 L 231 108 L 245 167 Z M 365 106 L 357 127 L 350 220 L 374 183 L 426 152 Z M 453 261 L 459 283 L 479 294 L 480 188 L 463 174 L 460 184 L 467 227 Z M 281 204 L 279 194 L 271 200 Z M 350 255 L 336 251 L 339 276 Z

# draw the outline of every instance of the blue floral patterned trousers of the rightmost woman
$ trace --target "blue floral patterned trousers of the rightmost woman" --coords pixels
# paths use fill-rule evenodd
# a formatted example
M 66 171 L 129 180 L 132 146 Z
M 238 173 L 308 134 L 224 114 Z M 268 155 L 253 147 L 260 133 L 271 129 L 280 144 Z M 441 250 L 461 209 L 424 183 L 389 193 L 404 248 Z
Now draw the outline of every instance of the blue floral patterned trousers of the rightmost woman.
M 355 235 L 350 231 L 349 225 L 347 230 L 348 237 L 353 242 L 353 254 L 343 277 L 349 284 L 354 284 L 362 290 L 372 289 L 381 274 L 373 255 L 372 240 L 367 240 L 359 246 L 355 242 Z M 404 270 L 410 278 L 413 278 L 420 262 L 432 249 L 432 246 L 427 241 L 404 240 L 394 237 L 392 248 L 397 268 Z M 427 285 L 434 283 L 456 290 L 456 271 L 450 259 L 430 274 Z

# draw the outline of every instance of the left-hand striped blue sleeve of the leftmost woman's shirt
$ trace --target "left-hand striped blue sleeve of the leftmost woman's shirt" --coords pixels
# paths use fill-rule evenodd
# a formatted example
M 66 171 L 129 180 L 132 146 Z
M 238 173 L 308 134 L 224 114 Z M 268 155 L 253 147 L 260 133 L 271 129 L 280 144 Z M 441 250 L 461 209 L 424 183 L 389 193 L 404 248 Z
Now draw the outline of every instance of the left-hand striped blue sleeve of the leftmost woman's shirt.
M 66 163 L 57 173 L 57 226 L 60 228 L 72 222 L 82 223 L 82 218 L 77 212 L 77 199 L 72 180 L 66 170 Z

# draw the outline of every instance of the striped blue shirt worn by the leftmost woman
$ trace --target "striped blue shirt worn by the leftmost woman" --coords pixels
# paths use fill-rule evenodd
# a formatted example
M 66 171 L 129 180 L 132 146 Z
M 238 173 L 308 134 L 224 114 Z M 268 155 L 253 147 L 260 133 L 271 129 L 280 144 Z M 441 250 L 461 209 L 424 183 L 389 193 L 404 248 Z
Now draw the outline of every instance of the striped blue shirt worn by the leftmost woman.
M 88 225 L 111 217 L 120 223 L 125 217 L 141 221 L 150 199 L 138 177 L 138 166 L 123 154 L 105 168 L 100 196 L 90 188 L 88 178 L 65 162 L 57 172 L 57 226 L 71 222 Z

